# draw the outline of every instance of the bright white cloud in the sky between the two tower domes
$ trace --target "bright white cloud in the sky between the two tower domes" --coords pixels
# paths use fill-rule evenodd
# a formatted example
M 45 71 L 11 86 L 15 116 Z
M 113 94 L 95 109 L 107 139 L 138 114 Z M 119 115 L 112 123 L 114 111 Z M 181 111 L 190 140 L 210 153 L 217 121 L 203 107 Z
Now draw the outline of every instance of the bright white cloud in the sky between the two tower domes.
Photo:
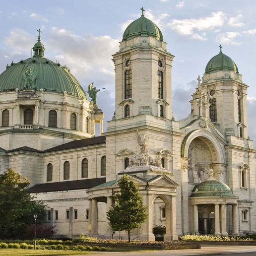
M 191 19 L 172 19 L 167 26 L 180 35 L 190 35 L 194 39 L 206 40 L 204 35 L 198 32 L 221 28 L 226 20 L 226 14 L 222 11 L 212 12 L 210 17 Z M 195 32 L 197 31 L 197 33 Z

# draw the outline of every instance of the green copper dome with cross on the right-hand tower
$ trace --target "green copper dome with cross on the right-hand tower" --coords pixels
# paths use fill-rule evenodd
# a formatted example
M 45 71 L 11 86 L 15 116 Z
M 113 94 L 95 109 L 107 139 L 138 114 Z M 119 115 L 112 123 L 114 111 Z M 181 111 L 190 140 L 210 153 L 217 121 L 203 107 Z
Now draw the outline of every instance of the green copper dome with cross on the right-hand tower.
M 238 73 L 237 65 L 230 57 L 222 53 L 221 48 L 222 46 L 220 45 L 220 53 L 211 58 L 207 63 L 205 67 L 205 74 L 220 70 L 233 70 Z

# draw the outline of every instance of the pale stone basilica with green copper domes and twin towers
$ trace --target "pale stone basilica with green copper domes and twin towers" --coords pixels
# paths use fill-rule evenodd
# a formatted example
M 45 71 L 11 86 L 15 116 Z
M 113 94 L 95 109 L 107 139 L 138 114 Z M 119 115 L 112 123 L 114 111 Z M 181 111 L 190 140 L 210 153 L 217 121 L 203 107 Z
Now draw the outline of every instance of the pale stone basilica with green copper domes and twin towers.
M 91 84 L 85 94 L 67 66 L 45 57 L 40 30 L 33 56 L 7 65 L 0 74 L 0 173 L 12 168 L 30 180 L 57 237 L 127 239 L 106 219 L 124 174 L 147 206 L 132 238 L 155 240 L 156 225 L 166 227 L 167 242 L 256 231 L 248 85 L 220 46 L 197 78 L 188 117 L 175 120 L 174 56 L 141 10 L 113 53 L 115 112 L 106 132 L 98 90 Z

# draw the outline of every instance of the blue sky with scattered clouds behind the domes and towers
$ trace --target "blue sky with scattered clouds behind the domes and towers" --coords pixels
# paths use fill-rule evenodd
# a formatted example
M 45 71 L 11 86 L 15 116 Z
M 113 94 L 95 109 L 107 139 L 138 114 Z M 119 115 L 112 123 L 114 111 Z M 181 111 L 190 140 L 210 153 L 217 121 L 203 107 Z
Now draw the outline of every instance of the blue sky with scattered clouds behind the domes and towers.
M 6 65 L 31 57 L 41 41 L 45 57 L 67 65 L 85 91 L 94 82 L 97 104 L 106 121 L 114 113 L 115 71 L 112 55 L 130 22 L 141 15 L 161 29 L 172 69 L 173 112 L 189 115 L 189 100 L 208 61 L 222 51 L 238 66 L 249 85 L 249 134 L 256 145 L 256 1 L 255 0 L 8 0 L 0 5 L 0 73 Z M 89 97 L 88 97 L 89 99 Z M 107 100 L 106 100 L 107 99 Z

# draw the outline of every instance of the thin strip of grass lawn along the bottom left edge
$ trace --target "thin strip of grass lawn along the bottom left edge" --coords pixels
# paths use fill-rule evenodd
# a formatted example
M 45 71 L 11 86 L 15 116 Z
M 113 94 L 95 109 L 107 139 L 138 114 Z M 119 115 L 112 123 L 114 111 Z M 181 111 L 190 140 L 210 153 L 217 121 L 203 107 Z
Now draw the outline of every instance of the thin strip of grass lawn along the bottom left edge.
M 29 256 L 29 255 L 85 255 L 86 251 L 61 251 L 61 250 L 25 250 L 25 249 L 0 249 L 1 256 Z

